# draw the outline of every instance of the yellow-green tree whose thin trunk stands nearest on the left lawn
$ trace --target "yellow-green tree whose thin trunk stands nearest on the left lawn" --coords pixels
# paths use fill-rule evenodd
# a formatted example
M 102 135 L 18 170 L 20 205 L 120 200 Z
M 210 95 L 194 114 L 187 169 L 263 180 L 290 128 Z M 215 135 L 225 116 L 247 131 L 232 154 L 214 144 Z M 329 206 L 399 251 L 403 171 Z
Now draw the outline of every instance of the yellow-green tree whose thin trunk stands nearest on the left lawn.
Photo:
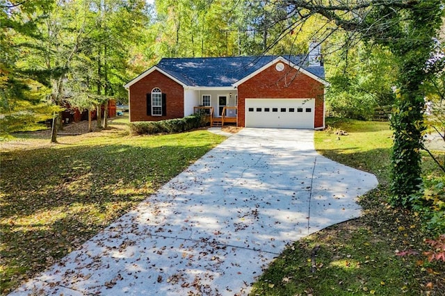
M 22 11 L 20 17 L 31 15 L 40 19 L 33 34 L 16 38 L 20 49 L 17 68 L 46 85 L 51 90 L 49 99 L 56 106 L 62 104 L 66 74 L 81 46 L 86 28 L 82 1 L 54 1 L 48 6 L 34 6 Z M 54 113 L 51 142 L 57 142 L 61 117 Z

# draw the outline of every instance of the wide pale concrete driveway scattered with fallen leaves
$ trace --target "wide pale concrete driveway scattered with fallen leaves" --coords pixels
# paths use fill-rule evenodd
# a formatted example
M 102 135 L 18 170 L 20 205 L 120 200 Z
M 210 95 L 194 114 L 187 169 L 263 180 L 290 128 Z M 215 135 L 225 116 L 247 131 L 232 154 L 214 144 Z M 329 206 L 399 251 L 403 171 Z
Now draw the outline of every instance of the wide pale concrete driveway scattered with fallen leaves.
M 286 244 L 360 215 L 375 176 L 314 131 L 243 129 L 12 295 L 244 295 Z

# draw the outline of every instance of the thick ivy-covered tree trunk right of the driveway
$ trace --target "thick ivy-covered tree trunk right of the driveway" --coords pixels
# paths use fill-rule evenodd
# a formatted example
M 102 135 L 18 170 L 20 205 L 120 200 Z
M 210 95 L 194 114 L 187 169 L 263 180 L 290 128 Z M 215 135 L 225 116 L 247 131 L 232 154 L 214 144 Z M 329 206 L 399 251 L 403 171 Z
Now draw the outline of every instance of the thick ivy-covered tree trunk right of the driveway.
M 422 182 L 420 151 L 426 126 L 423 122 L 424 93 L 420 88 L 427 76 L 423 65 L 429 55 L 427 52 L 422 58 L 420 52 L 416 48 L 408 49 L 398 58 L 401 72 L 398 76 L 399 91 L 396 110 L 391 117 L 394 129 L 391 154 L 393 204 L 406 207 L 411 206 L 409 197 L 419 190 Z

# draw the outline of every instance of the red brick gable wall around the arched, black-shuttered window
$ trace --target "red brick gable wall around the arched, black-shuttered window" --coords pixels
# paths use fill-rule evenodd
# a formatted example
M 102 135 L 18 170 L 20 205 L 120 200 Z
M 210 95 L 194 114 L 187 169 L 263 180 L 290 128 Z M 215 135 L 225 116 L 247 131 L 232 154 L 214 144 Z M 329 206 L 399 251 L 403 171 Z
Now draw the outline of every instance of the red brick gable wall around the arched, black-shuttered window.
M 166 116 L 147 115 L 147 94 L 153 88 L 160 88 L 165 93 L 167 104 Z M 158 121 L 184 117 L 184 88 L 161 72 L 154 70 L 129 88 L 130 121 Z

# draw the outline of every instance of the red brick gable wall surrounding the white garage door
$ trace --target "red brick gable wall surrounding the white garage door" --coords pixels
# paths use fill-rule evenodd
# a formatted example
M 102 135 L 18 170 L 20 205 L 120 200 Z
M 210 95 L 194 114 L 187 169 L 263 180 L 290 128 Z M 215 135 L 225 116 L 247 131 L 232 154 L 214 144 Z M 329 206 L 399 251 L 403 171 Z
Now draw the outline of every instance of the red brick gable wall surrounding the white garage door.
M 316 99 L 314 127 L 323 126 L 324 85 L 285 65 L 282 72 L 275 64 L 238 85 L 238 126 L 245 126 L 245 99 Z

